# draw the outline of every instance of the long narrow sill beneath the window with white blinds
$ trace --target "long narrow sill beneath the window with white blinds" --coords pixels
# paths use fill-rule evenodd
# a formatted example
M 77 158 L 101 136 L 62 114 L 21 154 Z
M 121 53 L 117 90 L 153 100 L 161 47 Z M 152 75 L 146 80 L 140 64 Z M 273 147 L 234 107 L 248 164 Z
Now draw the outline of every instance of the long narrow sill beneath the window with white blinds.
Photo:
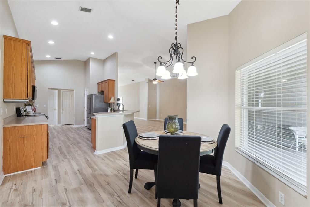
M 246 159 L 250 160 L 251 162 L 255 163 L 257 166 L 259 166 L 260 168 L 262 168 L 264 171 L 266 171 L 267 173 L 271 174 L 273 177 L 277 178 L 278 180 L 280 180 L 281 182 L 283 182 L 284 184 L 286 184 L 287 186 L 289 186 L 290 188 L 292 188 L 294 191 L 298 192 L 300 195 L 302 195 L 303 197 L 307 198 L 307 192 L 303 191 L 302 189 L 300 189 L 299 187 L 295 186 L 293 183 L 289 182 L 288 180 L 286 180 L 284 177 L 282 177 L 281 175 L 275 173 L 274 171 L 272 171 L 271 169 L 267 168 L 266 166 L 264 166 L 262 163 L 256 161 L 255 159 L 253 159 L 252 157 L 250 157 L 249 155 L 247 155 L 246 153 L 242 152 L 241 150 L 236 149 L 235 150 L 237 153 L 241 154 L 243 157 L 245 157 Z

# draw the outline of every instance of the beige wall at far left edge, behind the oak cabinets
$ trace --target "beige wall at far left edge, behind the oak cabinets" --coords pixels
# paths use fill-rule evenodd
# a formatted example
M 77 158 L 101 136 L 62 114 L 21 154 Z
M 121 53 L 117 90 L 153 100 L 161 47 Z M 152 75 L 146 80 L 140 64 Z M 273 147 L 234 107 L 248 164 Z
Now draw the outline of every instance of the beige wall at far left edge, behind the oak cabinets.
M 0 107 L 3 110 L 3 114 L 0 116 L 0 134 L 1 134 L 1 157 L 0 157 L 0 173 L 2 173 L 2 149 L 3 149 L 3 119 L 15 114 L 15 107 L 23 106 L 24 104 L 7 104 L 3 102 L 3 34 L 19 37 L 13 17 L 11 14 L 11 10 L 7 1 L 0 1 L 0 38 L 1 38 L 1 45 L 0 45 L 0 55 L 1 55 L 1 81 L 0 81 Z M 7 108 L 7 110 L 6 110 Z

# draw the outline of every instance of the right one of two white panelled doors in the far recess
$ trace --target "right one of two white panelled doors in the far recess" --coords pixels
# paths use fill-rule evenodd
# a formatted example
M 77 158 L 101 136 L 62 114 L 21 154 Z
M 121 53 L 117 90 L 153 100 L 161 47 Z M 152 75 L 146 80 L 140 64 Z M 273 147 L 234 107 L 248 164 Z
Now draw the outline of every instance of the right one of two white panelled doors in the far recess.
M 74 91 L 61 91 L 62 125 L 74 123 Z

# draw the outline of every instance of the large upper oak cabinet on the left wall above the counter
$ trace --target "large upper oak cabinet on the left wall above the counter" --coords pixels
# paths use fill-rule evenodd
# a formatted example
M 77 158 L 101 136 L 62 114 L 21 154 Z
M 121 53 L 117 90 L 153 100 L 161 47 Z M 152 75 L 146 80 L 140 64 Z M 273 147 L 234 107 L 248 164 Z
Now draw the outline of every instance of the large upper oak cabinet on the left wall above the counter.
M 3 99 L 32 100 L 35 70 L 31 42 L 3 35 Z

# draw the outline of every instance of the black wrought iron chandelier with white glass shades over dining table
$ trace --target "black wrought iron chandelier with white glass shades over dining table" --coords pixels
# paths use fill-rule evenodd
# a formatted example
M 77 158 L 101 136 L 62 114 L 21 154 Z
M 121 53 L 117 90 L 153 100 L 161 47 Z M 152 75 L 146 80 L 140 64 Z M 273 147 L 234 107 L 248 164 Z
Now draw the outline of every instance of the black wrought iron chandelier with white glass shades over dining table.
M 196 61 L 196 57 L 192 57 L 191 59 L 193 61 L 185 61 L 183 60 L 183 52 L 184 49 L 181 47 L 181 44 L 178 43 L 178 36 L 177 36 L 177 5 L 180 5 L 179 0 L 175 1 L 175 43 L 171 44 L 171 47 L 169 48 L 169 55 L 170 59 L 168 61 L 161 61 L 162 56 L 159 56 L 157 58 L 160 65 L 157 68 L 157 76 L 162 76 L 162 79 L 170 79 L 177 77 L 178 79 L 185 79 L 188 78 L 188 76 L 197 76 L 197 69 L 194 66 L 194 62 Z M 173 58 L 176 59 L 175 64 L 173 65 Z M 184 69 L 184 63 L 190 63 L 190 66 L 187 69 L 187 72 Z M 170 71 L 168 70 L 168 67 L 172 66 L 173 71 L 172 74 L 170 74 Z

